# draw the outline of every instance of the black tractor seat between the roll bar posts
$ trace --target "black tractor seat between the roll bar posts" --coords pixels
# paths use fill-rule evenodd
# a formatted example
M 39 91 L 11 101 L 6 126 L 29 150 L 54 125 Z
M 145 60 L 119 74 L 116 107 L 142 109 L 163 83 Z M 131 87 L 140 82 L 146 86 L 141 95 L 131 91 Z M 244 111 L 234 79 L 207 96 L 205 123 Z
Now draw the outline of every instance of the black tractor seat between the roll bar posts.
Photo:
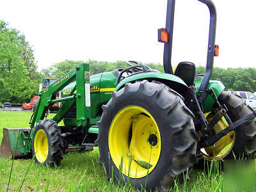
M 194 84 L 196 67 L 191 62 L 180 62 L 174 72 L 175 76 L 180 77 L 188 86 Z

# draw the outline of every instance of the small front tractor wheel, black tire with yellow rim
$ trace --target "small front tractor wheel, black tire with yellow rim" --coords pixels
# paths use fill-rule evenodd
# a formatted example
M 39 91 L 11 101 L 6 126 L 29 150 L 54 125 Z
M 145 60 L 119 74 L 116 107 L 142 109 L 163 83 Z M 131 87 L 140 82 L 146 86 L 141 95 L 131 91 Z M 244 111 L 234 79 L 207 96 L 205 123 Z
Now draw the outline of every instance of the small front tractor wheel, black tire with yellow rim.
M 44 166 L 60 165 L 63 159 L 61 129 L 51 119 L 40 120 L 33 132 L 32 152 L 35 162 Z

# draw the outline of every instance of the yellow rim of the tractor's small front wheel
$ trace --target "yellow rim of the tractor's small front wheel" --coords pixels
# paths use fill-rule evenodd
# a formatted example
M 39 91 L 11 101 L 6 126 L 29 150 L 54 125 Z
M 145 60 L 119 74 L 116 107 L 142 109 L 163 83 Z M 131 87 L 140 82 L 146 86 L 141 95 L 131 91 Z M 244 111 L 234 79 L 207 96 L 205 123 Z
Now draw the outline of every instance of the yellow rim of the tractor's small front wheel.
M 48 140 L 44 130 L 42 129 L 39 129 L 36 132 L 34 149 L 36 153 L 36 159 L 40 163 L 44 163 L 48 154 Z

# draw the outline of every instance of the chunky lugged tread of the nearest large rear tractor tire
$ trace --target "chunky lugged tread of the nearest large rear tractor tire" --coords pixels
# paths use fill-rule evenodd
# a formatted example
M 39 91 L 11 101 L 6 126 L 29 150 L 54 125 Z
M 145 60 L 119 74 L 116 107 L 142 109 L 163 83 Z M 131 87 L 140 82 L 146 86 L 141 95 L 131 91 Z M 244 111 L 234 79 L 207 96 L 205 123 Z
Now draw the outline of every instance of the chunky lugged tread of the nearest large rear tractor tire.
M 106 134 L 104 129 L 106 127 L 106 117 L 112 113 L 113 106 L 116 105 L 118 100 L 122 97 L 128 97 L 126 95 L 132 95 L 133 93 L 140 92 L 143 97 L 154 97 L 159 109 L 163 110 L 163 118 L 168 119 L 168 127 L 172 136 L 171 143 L 173 154 L 170 154 L 169 167 L 164 168 L 161 178 L 154 178 L 152 182 L 148 180 L 146 189 L 164 189 L 166 180 L 173 181 L 174 177 L 186 172 L 189 168 L 196 163 L 197 157 L 195 155 L 196 143 L 198 136 L 196 137 L 195 127 L 193 124 L 193 113 L 185 106 L 182 97 L 179 93 L 170 89 L 165 84 L 157 81 L 148 82 L 147 80 L 138 81 L 134 84 L 127 83 L 124 88 L 113 92 L 113 97 L 109 100 L 108 104 L 102 106 L 104 111 L 101 120 L 97 123 L 99 126 L 99 135 L 96 144 L 99 146 L 99 163 L 102 163 L 106 172 L 106 178 L 109 179 L 109 156 L 104 153 L 104 148 L 108 144 L 106 143 Z M 169 96 L 168 96 L 169 95 Z M 173 102 L 174 98 L 174 102 Z M 108 134 L 107 134 L 108 135 Z M 165 173 L 164 173 L 165 172 Z M 149 176 L 149 175 L 148 175 Z M 136 186 L 140 188 L 141 186 Z

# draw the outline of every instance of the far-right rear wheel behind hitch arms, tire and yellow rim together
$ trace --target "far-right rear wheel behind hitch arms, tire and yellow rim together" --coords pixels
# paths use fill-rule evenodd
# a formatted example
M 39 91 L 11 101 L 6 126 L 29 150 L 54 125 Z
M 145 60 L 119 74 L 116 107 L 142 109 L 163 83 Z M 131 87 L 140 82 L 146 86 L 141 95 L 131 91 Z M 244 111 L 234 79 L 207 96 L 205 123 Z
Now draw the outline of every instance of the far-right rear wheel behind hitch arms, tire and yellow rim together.
M 227 114 L 232 120 L 237 120 L 249 115 L 253 112 L 250 106 L 247 106 L 244 100 L 230 91 L 224 90 L 219 101 L 227 106 Z M 211 121 L 214 114 L 209 113 L 207 120 Z M 227 122 L 221 119 L 215 126 L 214 131 L 220 132 L 228 127 Z M 229 132 L 223 136 L 214 145 L 207 148 L 201 148 L 202 159 L 199 159 L 194 168 L 209 170 L 211 161 L 219 161 L 216 163 L 218 168 L 222 170 L 223 161 L 221 159 L 252 159 L 255 158 L 256 151 L 256 120 L 250 120 L 241 127 L 237 127 L 236 131 Z

